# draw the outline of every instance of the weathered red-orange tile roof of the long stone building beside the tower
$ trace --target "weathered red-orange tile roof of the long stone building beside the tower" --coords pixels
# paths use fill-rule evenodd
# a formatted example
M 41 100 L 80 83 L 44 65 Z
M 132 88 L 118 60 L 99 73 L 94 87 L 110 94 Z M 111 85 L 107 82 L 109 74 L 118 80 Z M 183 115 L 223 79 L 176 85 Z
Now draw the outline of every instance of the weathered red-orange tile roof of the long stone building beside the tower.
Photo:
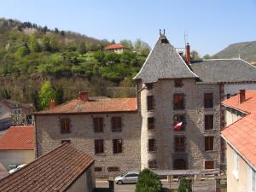
M 73 99 L 55 108 L 34 113 L 56 114 L 56 113 L 134 113 L 137 112 L 136 98 L 107 98 L 89 100 L 83 102 L 80 99 Z

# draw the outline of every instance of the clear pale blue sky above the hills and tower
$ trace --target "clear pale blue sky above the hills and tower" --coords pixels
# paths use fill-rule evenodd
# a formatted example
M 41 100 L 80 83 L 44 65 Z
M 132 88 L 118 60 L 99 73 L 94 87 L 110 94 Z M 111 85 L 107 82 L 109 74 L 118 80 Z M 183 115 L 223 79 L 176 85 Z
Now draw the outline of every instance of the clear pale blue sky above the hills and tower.
M 151 47 L 159 29 L 175 47 L 213 55 L 256 40 L 256 0 L 1 0 L 0 17 L 116 42 L 141 38 Z M 237 53 L 238 55 L 238 53 Z

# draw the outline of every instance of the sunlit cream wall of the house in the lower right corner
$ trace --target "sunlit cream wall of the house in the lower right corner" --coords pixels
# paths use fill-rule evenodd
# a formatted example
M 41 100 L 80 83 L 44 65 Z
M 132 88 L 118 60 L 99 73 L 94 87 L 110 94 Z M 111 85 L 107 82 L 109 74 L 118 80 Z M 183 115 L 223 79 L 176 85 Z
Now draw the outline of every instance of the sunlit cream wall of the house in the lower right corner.
M 238 155 L 238 177 L 233 173 L 234 170 L 234 149 L 227 144 L 227 191 L 228 192 L 246 192 L 247 186 L 247 169 L 248 165 L 245 160 Z

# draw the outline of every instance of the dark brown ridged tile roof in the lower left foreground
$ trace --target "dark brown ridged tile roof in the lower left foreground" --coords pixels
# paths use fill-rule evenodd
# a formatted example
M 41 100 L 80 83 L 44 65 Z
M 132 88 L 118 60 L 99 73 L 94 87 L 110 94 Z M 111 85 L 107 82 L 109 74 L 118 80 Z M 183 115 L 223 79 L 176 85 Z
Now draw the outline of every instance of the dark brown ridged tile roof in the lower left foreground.
M 64 143 L 4 177 L 0 180 L 0 191 L 66 191 L 93 163 L 90 155 Z

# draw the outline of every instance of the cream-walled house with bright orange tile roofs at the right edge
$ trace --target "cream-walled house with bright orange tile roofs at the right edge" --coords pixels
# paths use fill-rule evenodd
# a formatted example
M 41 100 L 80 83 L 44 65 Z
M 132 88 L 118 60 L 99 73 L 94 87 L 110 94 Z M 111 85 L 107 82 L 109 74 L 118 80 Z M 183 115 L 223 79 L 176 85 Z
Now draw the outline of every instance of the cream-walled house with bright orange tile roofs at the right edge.
M 228 192 L 256 191 L 256 90 L 240 90 L 223 102 L 227 127 L 221 131 L 226 142 Z

